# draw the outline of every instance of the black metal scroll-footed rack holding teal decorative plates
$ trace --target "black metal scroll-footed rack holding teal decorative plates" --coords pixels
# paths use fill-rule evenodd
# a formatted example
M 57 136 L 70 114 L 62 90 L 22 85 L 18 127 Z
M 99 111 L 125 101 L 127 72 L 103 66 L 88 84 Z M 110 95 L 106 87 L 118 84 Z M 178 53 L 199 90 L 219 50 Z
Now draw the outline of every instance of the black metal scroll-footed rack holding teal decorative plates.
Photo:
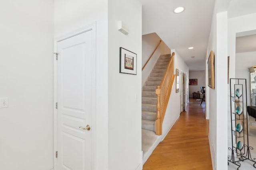
M 249 146 L 248 139 L 246 90 L 246 79 L 230 78 L 230 117 L 232 148 L 228 148 L 228 150 L 231 151 L 231 158 L 228 157 L 228 164 L 229 162 L 235 164 L 236 166 L 238 166 L 237 170 L 241 166 L 240 161 L 244 160 L 250 160 L 254 162 L 253 166 L 254 168 L 256 168 L 256 158 L 252 158 L 251 156 L 250 150 L 252 150 L 253 148 Z M 244 127 L 246 127 L 246 132 Z M 235 157 L 237 157 L 237 159 L 235 159 Z

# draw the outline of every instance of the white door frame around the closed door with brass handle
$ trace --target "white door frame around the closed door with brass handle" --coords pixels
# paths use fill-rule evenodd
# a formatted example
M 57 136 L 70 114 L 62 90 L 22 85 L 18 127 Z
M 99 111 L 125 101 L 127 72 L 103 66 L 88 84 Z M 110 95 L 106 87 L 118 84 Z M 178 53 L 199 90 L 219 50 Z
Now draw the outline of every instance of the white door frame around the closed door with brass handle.
M 54 38 L 54 53 L 57 51 L 57 43 L 59 41 L 62 41 L 64 39 L 68 39 L 70 37 L 74 37 L 76 35 L 79 35 L 81 33 L 87 32 L 87 31 L 92 31 L 92 130 L 96 129 L 94 128 L 94 125 L 96 125 L 96 21 L 94 23 L 91 23 L 90 25 L 86 25 L 80 29 L 76 29 L 74 31 L 70 31 L 69 33 L 66 33 L 65 35 L 62 35 L 58 38 Z M 53 86 L 54 86 L 54 100 L 53 100 L 53 108 L 54 108 L 54 115 L 53 115 L 53 159 L 54 159 L 54 170 L 57 170 L 57 158 L 56 158 L 56 151 L 57 151 L 57 143 L 58 143 L 58 112 L 56 109 L 56 102 L 58 101 L 57 98 L 57 92 L 58 92 L 58 84 L 57 84 L 57 70 L 58 70 L 58 61 L 56 60 L 56 54 L 53 54 L 53 66 L 54 66 L 54 81 L 53 81 Z M 96 135 L 95 131 L 92 132 L 92 169 L 94 165 L 94 153 L 96 150 L 96 147 L 94 147 L 93 144 L 96 143 Z

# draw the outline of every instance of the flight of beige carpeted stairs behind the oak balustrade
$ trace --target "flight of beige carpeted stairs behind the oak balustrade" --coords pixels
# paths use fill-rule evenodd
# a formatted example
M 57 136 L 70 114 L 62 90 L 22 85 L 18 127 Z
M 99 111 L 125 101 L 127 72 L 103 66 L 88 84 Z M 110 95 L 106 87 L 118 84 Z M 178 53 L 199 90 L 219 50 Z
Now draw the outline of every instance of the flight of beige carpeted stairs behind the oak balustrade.
M 161 84 L 171 54 L 161 55 L 142 89 L 142 129 L 156 132 L 156 86 Z

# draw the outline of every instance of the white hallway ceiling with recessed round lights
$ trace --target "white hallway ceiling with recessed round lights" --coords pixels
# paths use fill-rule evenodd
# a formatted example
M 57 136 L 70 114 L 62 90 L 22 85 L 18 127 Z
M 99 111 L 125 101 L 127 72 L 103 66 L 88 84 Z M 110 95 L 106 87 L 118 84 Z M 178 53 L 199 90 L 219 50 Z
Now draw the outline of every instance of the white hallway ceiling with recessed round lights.
M 214 0 L 140 0 L 142 34 L 156 32 L 170 49 L 188 65 L 189 70 L 204 70 L 212 23 Z M 184 7 L 182 13 L 173 10 Z M 189 50 L 188 47 L 194 47 Z M 194 58 L 191 58 L 195 56 Z

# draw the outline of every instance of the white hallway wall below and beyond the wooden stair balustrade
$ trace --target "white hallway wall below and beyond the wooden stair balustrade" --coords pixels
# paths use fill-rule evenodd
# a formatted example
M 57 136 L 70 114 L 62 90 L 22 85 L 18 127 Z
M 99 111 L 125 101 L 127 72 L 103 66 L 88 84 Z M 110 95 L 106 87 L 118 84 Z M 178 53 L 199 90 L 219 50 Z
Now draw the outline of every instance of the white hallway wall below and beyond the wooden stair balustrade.
M 178 68 L 180 70 L 180 77 L 182 77 L 181 71 L 186 72 L 188 74 L 188 66 L 183 61 L 183 59 L 180 57 L 180 55 L 175 51 L 175 49 L 171 50 L 175 53 L 174 55 L 174 70 Z M 174 72 L 175 74 L 175 72 Z M 189 75 L 188 75 L 189 76 Z M 182 78 L 180 78 L 180 90 L 182 89 Z M 171 127 L 174 125 L 176 120 L 180 117 L 180 92 L 176 93 L 176 81 L 174 80 L 173 86 L 172 86 L 172 92 L 170 95 L 170 99 L 168 101 L 168 105 L 166 108 L 164 121 L 162 124 L 162 136 L 163 138 L 167 135 L 167 133 L 170 131 Z M 163 139 L 162 139 L 163 140 Z

